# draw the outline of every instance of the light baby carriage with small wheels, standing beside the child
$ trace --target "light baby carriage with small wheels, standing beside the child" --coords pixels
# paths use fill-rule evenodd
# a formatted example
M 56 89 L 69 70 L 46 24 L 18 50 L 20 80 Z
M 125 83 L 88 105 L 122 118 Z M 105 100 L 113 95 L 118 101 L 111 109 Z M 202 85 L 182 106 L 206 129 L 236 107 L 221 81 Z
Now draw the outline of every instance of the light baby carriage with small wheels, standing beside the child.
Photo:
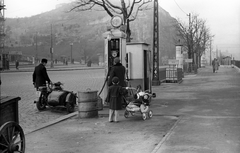
M 127 87 L 127 89 L 131 92 L 130 97 L 124 97 L 125 101 L 127 102 L 124 117 L 128 118 L 130 114 L 134 116 L 136 112 L 140 112 L 143 120 L 146 120 L 147 116 L 152 118 L 153 112 L 150 110 L 149 106 L 151 98 L 155 98 L 156 94 L 151 93 L 148 90 L 142 91 L 141 86 L 138 86 L 137 89 L 132 87 Z

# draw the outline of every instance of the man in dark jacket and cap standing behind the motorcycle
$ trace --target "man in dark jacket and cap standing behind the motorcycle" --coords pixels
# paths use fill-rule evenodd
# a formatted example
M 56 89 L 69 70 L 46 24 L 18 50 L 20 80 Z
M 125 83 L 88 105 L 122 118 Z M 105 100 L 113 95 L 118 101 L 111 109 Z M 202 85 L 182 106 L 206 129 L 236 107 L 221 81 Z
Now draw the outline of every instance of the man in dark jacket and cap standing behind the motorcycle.
M 33 84 L 37 90 L 40 86 L 46 85 L 46 81 L 48 83 L 51 83 L 45 67 L 46 65 L 47 65 L 47 59 L 42 59 L 41 63 L 38 66 L 36 66 L 34 69 L 32 77 L 33 77 Z

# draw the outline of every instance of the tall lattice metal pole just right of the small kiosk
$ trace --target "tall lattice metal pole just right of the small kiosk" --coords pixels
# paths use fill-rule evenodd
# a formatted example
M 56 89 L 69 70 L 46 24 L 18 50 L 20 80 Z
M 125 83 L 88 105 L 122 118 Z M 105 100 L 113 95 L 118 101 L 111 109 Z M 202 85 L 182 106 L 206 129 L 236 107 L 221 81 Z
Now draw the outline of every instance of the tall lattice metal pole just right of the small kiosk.
M 159 86 L 159 22 L 158 22 L 158 0 L 154 0 L 153 9 L 153 86 Z

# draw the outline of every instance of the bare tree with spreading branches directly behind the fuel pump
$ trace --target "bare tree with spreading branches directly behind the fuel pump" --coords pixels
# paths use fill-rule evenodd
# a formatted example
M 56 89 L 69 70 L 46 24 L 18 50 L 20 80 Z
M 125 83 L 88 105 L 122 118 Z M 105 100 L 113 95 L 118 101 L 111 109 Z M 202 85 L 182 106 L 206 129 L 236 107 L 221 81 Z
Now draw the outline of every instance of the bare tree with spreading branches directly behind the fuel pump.
M 138 12 L 150 9 L 152 0 L 77 0 L 75 6 L 71 9 L 77 11 L 104 10 L 111 17 L 119 15 L 123 18 L 123 24 L 126 26 L 127 42 L 131 41 L 130 22 L 137 18 Z

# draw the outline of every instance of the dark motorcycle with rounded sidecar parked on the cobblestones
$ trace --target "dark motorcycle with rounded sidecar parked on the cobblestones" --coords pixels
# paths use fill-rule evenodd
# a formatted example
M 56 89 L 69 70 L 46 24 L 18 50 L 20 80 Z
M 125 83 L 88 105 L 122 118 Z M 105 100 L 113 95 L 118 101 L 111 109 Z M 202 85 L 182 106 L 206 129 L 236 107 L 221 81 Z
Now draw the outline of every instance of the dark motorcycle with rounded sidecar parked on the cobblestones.
M 39 111 L 46 109 L 46 106 L 64 106 L 69 113 L 74 112 L 77 94 L 63 90 L 62 85 L 61 82 L 56 82 L 39 87 L 40 96 L 38 101 L 35 101 Z

